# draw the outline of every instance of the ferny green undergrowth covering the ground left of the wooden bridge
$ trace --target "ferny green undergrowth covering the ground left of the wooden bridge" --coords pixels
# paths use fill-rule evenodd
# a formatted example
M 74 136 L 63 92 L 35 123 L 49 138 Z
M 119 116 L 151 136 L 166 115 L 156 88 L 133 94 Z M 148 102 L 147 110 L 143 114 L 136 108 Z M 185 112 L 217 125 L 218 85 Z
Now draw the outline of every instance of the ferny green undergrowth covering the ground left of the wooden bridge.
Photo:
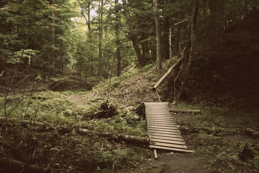
M 113 167 L 127 170 L 147 161 L 145 146 L 95 134 L 77 134 L 79 128 L 85 128 L 147 137 L 145 120 L 138 120 L 132 111 L 126 112 L 116 99 L 109 99 L 109 105 L 116 108 L 117 114 L 97 119 L 96 115 L 102 111 L 100 104 L 106 98 L 83 97 L 82 104 L 76 104 L 71 100 L 73 95 L 83 97 L 86 93 L 44 91 L 0 97 L 3 154 L 15 157 L 16 150 L 26 151 L 29 158 L 33 157 L 43 167 L 49 166 L 53 172 L 62 172 L 62 167 L 78 172 L 99 172 Z M 13 147 L 18 144 L 18 148 Z

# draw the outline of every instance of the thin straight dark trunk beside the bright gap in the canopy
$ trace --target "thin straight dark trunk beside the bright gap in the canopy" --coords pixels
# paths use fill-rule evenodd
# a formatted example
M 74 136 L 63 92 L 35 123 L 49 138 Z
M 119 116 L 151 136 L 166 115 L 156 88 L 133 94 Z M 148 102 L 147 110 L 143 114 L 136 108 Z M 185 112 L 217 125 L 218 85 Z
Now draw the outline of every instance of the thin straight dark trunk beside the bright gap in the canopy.
M 102 81 L 103 0 L 99 0 L 99 8 L 99 80 Z

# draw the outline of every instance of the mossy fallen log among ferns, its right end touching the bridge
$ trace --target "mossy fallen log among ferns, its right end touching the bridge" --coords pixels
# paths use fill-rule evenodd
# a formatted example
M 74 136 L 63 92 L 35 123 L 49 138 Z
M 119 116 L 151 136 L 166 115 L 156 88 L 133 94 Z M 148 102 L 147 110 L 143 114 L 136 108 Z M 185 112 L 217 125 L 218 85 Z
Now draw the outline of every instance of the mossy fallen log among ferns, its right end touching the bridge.
M 135 145 L 146 145 L 149 144 L 149 138 L 148 137 L 139 137 L 139 136 L 133 136 L 133 135 L 126 135 L 126 134 L 120 134 L 120 133 L 113 133 L 113 132 L 104 132 L 104 131 L 91 131 L 89 129 L 78 129 L 78 134 L 82 135 L 89 135 L 89 134 L 95 134 L 100 137 L 108 137 L 113 138 L 118 141 L 131 143 Z

